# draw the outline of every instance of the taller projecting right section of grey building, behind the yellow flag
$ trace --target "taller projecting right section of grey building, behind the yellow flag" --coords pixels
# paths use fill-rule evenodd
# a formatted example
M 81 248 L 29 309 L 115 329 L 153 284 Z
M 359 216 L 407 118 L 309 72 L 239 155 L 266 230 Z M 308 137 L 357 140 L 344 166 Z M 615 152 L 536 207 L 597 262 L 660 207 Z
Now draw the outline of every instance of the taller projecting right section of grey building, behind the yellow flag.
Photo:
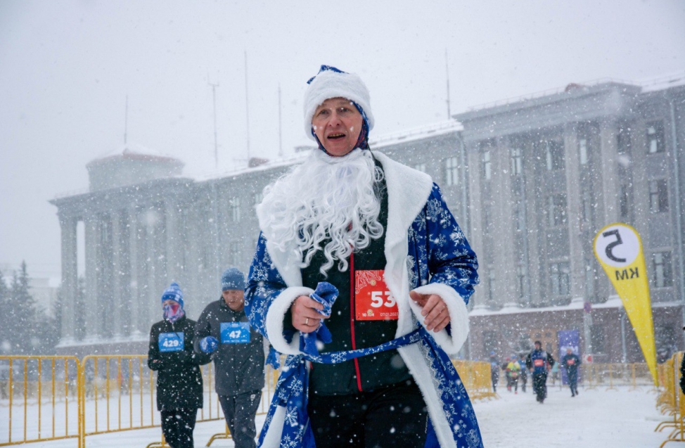
M 593 240 L 622 222 L 641 235 L 655 340 L 682 350 L 685 84 L 570 84 L 454 115 L 466 145 L 470 243 L 482 288 L 471 353 L 559 353 L 576 331 L 596 361 L 642 358 Z

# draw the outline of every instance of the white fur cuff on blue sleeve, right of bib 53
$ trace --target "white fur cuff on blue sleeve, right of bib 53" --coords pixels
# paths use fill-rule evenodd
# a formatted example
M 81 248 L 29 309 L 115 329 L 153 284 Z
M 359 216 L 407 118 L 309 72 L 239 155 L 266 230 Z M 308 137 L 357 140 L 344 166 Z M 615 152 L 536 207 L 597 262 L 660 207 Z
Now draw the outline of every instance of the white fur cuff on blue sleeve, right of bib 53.
M 435 342 L 442 347 L 442 350 L 447 354 L 455 354 L 461 350 L 461 346 L 466 342 L 468 336 L 468 311 L 466 310 L 466 303 L 464 303 L 461 295 L 452 288 L 442 283 L 428 283 L 428 285 L 419 286 L 414 291 L 419 294 L 435 294 L 440 295 L 444 300 L 447 309 L 449 310 L 449 324 L 452 329 L 452 335 L 447 334 L 446 330 L 438 333 L 430 332 Z M 423 325 L 424 316 L 421 315 L 421 307 L 416 305 L 414 300 L 409 300 L 409 306 L 416 315 L 416 319 Z

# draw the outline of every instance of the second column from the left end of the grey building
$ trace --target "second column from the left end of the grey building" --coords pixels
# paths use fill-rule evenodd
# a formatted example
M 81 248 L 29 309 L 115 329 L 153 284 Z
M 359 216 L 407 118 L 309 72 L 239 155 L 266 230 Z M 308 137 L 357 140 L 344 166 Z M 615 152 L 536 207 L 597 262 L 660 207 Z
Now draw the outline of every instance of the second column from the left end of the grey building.
M 85 339 L 95 340 L 98 331 L 98 219 L 95 215 L 84 217 L 86 291 L 84 298 Z

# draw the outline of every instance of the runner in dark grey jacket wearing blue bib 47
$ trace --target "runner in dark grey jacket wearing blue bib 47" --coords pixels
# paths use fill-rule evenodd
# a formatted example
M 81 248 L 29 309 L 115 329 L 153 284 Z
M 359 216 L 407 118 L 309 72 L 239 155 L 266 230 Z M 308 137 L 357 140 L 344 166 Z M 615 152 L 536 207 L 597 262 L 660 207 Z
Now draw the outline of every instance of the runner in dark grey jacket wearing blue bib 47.
M 195 333 L 196 352 L 210 354 L 215 390 L 236 448 L 256 446 L 255 414 L 264 388 L 264 343 L 245 316 L 245 275 L 222 274 L 222 296 L 205 307 Z

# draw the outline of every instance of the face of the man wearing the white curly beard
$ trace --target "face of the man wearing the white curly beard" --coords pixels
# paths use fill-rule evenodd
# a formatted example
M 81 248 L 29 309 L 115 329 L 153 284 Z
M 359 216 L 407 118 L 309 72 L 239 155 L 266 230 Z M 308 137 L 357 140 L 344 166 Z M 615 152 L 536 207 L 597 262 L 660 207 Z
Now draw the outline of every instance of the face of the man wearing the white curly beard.
M 363 121 L 352 101 L 346 98 L 328 98 L 314 110 L 312 127 L 326 152 L 340 157 L 354 149 Z

